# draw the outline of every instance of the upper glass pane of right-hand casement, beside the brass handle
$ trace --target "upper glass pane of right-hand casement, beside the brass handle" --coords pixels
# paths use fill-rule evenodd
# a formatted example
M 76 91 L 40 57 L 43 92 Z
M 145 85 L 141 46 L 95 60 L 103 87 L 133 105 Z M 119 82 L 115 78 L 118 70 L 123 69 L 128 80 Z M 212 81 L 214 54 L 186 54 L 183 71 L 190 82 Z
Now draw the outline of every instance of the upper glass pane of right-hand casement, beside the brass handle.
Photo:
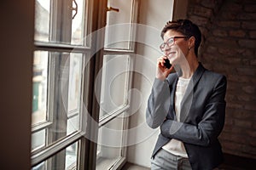
M 131 49 L 133 0 L 108 0 L 108 7 L 119 8 L 119 12 L 108 11 L 105 48 Z

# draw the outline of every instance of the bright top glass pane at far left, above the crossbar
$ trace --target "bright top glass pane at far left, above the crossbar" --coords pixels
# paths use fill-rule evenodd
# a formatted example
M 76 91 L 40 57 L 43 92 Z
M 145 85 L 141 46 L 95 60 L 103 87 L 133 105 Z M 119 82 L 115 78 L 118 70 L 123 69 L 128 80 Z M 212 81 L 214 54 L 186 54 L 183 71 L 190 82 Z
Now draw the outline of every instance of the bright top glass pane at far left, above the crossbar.
M 36 0 L 35 40 L 49 41 L 49 3 L 50 0 Z

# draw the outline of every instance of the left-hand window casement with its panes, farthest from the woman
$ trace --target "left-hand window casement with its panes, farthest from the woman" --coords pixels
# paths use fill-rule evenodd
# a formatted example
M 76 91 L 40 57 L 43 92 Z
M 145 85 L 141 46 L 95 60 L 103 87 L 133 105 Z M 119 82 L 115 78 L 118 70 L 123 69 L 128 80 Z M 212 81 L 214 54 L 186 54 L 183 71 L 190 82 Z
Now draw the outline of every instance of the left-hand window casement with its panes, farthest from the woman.
M 91 5 L 89 0 L 36 0 L 32 169 L 77 169 L 84 152 L 90 57 L 84 36 L 91 29 Z

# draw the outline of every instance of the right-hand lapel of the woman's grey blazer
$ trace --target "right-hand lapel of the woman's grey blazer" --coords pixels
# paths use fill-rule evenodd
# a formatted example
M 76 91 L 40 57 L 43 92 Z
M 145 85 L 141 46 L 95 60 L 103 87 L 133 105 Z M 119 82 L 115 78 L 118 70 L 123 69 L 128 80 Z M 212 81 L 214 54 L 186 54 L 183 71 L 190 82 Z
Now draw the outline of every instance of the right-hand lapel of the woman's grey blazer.
M 195 88 L 195 85 L 200 80 L 204 71 L 205 71 L 205 68 L 200 63 L 197 69 L 195 70 L 195 73 L 192 76 L 191 80 L 189 81 L 188 88 L 186 89 L 186 92 L 183 96 L 183 100 L 181 102 L 180 122 L 185 122 L 189 116 L 189 111 L 193 103 L 193 89 Z

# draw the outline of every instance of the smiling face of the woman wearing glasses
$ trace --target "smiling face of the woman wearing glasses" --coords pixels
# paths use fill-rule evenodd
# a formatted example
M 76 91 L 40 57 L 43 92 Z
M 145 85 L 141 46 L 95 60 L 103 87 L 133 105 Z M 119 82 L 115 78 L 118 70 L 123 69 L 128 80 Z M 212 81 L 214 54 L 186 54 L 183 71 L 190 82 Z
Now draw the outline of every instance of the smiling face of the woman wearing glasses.
M 172 37 L 174 37 L 174 42 L 171 46 L 166 45 L 164 53 L 173 65 L 183 62 L 183 59 L 186 58 L 189 53 L 189 43 L 182 33 L 172 30 L 166 31 L 164 35 L 164 42 L 170 42 L 169 40 Z

